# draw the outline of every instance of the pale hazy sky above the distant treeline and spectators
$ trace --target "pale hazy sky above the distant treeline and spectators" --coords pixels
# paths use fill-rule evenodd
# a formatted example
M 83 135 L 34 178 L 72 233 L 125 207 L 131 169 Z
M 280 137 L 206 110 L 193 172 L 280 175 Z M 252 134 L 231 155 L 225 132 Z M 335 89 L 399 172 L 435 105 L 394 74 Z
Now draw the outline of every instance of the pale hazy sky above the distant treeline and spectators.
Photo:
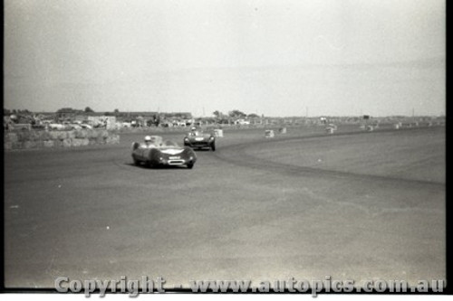
M 4 2 L 4 108 L 445 114 L 444 1 Z

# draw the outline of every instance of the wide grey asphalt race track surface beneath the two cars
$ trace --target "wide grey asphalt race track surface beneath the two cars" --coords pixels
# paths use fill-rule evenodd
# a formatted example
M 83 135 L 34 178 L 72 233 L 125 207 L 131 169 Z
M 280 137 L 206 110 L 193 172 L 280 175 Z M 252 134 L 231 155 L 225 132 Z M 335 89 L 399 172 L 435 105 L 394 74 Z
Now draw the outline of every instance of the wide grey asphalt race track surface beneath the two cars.
M 446 277 L 445 127 L 225 135 L 192 170 L 132 165 L 142 134 L 5 153 L 5 286 Z

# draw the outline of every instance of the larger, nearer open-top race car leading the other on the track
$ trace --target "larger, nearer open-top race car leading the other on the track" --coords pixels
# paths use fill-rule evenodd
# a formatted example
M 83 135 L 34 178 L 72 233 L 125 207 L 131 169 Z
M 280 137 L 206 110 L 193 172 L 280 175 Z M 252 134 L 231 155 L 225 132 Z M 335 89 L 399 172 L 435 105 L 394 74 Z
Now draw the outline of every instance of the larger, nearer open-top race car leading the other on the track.
M 144 164 L 149 167 L 186 165 L 193 168 L 197 155 L 187 146 L 178 146 L 176 142 L 164 141 L 161 136 L 147 136 L 145 144 L 132 143 L 132 159 L 135 165 Z

